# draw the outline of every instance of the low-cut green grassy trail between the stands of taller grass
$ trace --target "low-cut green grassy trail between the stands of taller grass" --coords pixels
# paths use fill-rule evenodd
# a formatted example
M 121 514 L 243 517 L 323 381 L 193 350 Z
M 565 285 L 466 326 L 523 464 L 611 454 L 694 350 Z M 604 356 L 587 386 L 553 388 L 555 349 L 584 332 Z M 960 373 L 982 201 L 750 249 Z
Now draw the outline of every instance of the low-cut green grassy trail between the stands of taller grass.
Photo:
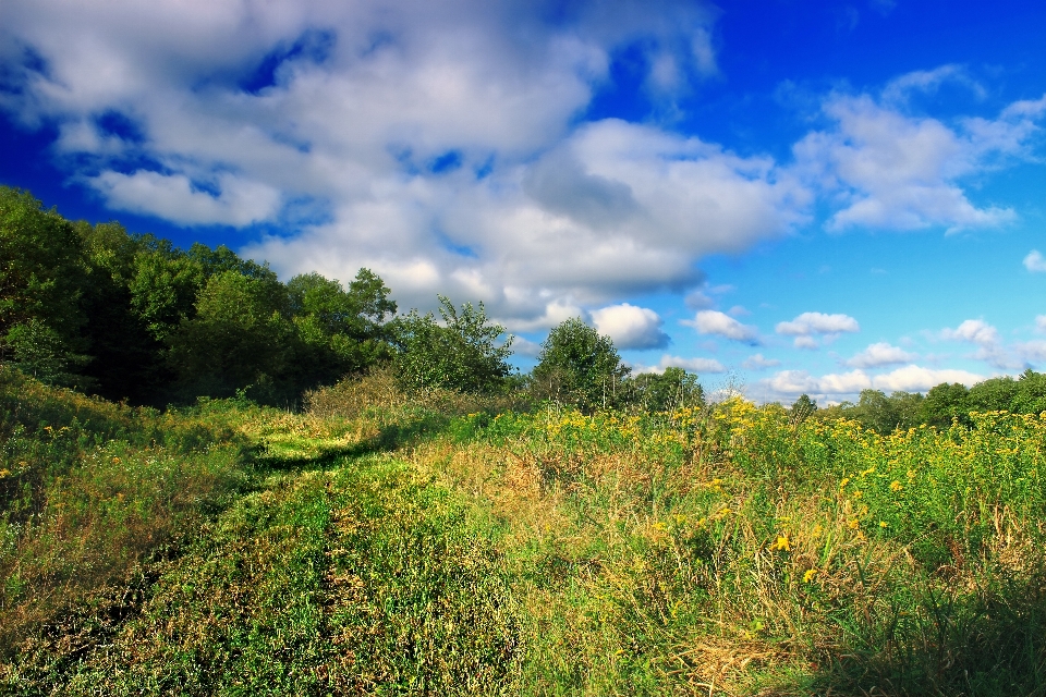
M 166 564 L 109 641 L 8 685 L 74 695 L 513 694 L 520 620 L 490 541 L 470 529 L 450 491 L 394 456 L 326 460 L 271 474 L 230 505 Z

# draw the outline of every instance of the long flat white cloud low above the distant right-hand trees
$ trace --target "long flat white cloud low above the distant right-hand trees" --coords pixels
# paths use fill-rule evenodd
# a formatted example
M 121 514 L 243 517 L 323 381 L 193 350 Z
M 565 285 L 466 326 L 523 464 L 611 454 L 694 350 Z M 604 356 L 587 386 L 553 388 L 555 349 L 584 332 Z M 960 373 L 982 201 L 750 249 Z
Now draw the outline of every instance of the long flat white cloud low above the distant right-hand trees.
M 849 372 L 813 376 L 805 370 L 781 370 L 759 387 L 775 396 L 798 396 L 806 393 L 823 399 L 851 399 L 861 390 L 925 392 L 941 382 L 962 382 L 970 386 L 985 376 L 966 370 L 924 368 L 908 365 L 881 375 L 869 375 L 856 369 Z

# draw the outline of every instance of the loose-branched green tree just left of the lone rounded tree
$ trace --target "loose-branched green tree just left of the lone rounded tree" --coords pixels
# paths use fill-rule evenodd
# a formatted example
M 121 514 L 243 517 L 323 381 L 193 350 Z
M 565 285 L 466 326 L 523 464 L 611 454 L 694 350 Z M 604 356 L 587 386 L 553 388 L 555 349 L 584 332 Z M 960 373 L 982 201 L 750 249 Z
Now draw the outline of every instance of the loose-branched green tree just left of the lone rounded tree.
M 507 359 L 512 340 L 504 327 L 490 323 L 483 303 L 465 303 L 457 309 L 439 298 L 440 326 L 431 313 L 411 310 L 396 323 L 399 353 L 396 365 L 401 380 L 412 389 L 445 388 L 460 392 L 495 392 L 511 372 Z

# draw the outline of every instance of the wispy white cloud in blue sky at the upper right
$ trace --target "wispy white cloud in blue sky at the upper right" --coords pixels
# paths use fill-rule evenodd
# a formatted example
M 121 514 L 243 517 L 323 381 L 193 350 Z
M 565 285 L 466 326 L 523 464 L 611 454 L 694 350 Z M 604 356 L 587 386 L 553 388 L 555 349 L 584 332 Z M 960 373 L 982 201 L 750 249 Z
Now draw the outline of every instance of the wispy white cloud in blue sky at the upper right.
M 1011 209 L 971 203 L 960 180 L 1007 159 L 1032 157 L 1043 100 L 1014 102 L 996 119 L 963 119 L 954 125 L 911 115 L 897 103 L 913 90 L 933 90 L 945 82 L 980 90 L 964 71 L 946 65 L 902 75 L 878 99 L 835 94 L 825 101 L 824 113 L 834 126 L 806 135 L 793 150 L 799 169 L 838 207 L 830 230 L 942 225 L 957 231 L 1015 219 Z

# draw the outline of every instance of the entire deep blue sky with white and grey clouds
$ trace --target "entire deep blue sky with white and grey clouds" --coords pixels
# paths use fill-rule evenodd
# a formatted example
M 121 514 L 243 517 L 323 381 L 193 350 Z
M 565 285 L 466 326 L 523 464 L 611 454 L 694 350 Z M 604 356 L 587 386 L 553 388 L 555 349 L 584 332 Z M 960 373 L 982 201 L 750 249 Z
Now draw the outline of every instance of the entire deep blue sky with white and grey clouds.
M 1046 3 L 0 0 L 0 183 L 822 404 L 1046 370 Z

